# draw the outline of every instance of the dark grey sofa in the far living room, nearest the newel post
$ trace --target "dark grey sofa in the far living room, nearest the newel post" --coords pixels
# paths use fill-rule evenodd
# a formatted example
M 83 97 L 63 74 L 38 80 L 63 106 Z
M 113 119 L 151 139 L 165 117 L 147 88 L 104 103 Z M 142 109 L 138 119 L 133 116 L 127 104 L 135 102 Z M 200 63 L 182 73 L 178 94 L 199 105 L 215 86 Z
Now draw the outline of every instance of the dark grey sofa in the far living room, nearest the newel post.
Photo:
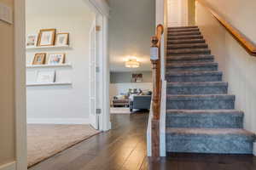
M 130 111 L 134 109 L 150 109 L 151 95 L 134 95 L 130 98 Z

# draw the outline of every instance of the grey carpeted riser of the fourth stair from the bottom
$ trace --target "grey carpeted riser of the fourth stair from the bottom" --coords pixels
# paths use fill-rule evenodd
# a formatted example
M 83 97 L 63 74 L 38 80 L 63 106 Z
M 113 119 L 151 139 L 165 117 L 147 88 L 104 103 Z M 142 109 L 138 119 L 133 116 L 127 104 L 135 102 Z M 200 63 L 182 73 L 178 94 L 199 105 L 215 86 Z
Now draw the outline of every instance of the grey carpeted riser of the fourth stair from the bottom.
M 227 82 L 168 82 L 167 94 L 227 94 Z

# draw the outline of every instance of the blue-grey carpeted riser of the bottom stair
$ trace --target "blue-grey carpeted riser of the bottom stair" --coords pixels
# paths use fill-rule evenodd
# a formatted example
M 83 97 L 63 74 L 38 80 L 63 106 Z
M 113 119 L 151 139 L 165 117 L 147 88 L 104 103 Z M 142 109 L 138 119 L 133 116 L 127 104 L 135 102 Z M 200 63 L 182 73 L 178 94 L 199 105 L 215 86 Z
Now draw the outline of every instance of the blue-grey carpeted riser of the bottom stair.
M 231 135 L 186 137 L 167 134 L 166 150 L 183 153 L 252 154 L 252 142 Z

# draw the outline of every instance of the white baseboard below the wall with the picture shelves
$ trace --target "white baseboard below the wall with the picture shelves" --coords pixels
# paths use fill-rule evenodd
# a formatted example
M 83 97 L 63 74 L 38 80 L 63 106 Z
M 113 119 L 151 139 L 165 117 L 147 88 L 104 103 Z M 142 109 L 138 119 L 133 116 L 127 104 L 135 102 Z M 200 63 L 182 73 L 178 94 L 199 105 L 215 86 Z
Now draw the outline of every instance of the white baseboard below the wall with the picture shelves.
M 90 124 L 90 118 L 27 118 L 28 124 Z

